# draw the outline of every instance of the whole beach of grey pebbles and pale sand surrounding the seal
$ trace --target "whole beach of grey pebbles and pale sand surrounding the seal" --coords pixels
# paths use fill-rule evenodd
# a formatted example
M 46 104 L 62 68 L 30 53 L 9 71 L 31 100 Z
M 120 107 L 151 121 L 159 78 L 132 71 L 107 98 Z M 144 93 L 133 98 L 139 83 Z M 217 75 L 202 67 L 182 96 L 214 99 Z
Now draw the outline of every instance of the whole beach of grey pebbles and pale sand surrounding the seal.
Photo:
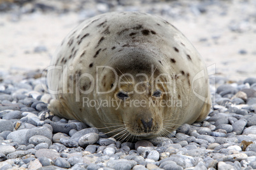
M 256 2 L 0 0 L 0 170 L 256 169 Z M 141 11 L 177 27 L 203 56 L 212 108 L 166 137 L 118 141 L 52 115 L 45 69 L 83 20 Z

